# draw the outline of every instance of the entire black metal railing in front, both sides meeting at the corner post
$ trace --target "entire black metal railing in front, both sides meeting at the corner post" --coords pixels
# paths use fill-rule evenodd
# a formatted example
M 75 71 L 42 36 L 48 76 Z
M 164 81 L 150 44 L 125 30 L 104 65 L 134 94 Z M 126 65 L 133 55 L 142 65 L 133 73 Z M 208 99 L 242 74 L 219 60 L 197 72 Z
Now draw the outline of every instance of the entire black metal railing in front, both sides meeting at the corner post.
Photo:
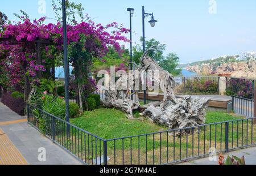
M 106 140 L 33 105 L 27 109 L 30 125 L 89 165 L 172 164 L 256 144 L 256 117 Z

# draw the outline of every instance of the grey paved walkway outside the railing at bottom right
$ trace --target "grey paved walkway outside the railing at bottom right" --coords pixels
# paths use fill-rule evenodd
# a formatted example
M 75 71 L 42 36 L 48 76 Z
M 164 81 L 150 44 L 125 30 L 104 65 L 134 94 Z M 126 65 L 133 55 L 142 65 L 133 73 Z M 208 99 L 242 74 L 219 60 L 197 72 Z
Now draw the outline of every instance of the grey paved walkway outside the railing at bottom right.
M 245 156 L 246 165 L 256 165 L 256 147 L 241 149 L 230 153 L 224 153 L 225 158 L 232 155 L 237 157 Z M 217 155 L 218 160 L 218 155 Z M 209 158 L 202 158 L 200 160 L 193 160 L 189 162 L 181 163 L 180 165 L 218 165 L 218 161 L 209 161 Z

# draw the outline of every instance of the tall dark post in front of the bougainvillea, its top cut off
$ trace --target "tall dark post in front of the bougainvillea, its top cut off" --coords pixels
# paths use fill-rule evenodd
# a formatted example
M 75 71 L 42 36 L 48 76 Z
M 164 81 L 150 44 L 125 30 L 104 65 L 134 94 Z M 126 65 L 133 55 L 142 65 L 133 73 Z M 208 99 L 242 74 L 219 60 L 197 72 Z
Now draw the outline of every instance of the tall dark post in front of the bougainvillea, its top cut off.
M 65 72 L 65 104 L 66 104 L 66 121 L 69 122 L 69 62 L 68 62 L 68 44 L 67 44 L 67 22 L 66 22 L 66 3 L 62 0 L 63 12 L 63 50 L 64 50 L 64 72 Z

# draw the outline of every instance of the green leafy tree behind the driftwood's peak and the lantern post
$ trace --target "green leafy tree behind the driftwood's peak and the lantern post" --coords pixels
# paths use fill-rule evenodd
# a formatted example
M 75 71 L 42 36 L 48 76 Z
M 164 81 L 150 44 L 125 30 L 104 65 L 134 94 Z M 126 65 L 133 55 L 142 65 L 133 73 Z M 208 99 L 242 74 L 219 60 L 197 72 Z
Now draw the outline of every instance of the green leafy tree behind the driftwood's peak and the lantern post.
M 142 42 L 142 38 L 141 38 Z M 164 69 L 170 72 L 172 75 L 177 76 L 180 75 L 181 69 L 176 69 L 176 67 L 179 65 L 179 57 L 177 57 L 177 54 L 170 53 L 166 57 L 164 57 L 164 51 L 166 50 L 166 45 L 161 44 L 160 41 L 156 41 L 154 38 L 152 38 L 149 41 L 145 41 L 146 44 L 146 50 L 150 48 L 151 46 L 155 46 L 156 50 L 151 50 L 148 52 L 148 55 L 153 58 L 158 64 Z M 141 58 L 143 54 L 143 50 L 141 46 L 137 45 L 133 47 L 133 61 L 137 64 L 140 63 L 139 59 Z

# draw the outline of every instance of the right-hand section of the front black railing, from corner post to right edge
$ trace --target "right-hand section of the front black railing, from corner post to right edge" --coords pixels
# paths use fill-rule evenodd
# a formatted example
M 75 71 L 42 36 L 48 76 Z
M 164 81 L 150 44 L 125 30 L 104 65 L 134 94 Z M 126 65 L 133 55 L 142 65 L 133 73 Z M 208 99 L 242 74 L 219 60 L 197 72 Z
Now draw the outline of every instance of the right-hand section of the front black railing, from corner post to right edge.
M 107 140 L 108 164 L 163 165 L 256 144 L 253 118 Z M 181 135 L 180 135 L 181 134 Z

